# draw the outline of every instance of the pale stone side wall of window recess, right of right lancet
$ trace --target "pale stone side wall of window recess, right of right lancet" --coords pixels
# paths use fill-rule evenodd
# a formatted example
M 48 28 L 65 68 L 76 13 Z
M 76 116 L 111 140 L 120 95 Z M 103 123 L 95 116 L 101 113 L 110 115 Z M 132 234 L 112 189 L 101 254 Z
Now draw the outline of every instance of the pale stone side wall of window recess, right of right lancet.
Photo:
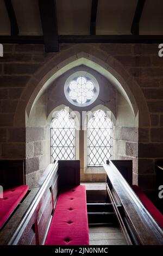
M 116 126 L 114 127 L 115 159 L 133 161 L 133 183 L 138 182 L 138 120 L 128 102 L 117 92 Z

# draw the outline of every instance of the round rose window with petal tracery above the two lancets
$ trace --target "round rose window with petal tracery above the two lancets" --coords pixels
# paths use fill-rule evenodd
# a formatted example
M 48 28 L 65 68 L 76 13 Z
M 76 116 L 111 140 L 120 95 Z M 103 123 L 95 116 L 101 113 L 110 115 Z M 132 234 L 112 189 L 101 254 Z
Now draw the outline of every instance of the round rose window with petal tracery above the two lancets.
M 65 96 L 73 105 L 85 107 L 97 99 L 99 93 L 95 77 L 86 73 L 69 77 L 65 83 Z

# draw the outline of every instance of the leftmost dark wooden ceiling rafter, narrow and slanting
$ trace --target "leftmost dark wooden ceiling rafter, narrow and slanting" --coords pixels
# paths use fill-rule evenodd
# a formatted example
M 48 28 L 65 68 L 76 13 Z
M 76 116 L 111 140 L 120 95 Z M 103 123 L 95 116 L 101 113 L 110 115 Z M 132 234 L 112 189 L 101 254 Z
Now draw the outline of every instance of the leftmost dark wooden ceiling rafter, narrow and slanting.
M 7 8 L 9 19 L 10 19 L 10 31 L 11 35 L 18 35 L 18 25 L 16 21 L 15 11 L 11 0 L 4 0 L 5 7 Z

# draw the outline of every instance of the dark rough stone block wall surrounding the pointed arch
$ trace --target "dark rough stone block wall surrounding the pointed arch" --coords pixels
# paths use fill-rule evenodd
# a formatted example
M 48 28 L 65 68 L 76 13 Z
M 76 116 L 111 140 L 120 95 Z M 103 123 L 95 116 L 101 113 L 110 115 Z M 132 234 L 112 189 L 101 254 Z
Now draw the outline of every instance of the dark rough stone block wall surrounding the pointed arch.
M 17 103 L 29 78 L 35 71 L 47 59 L 59 56 L 61 52 L 68 51 L 71 47 L 73 45 L 60 45 L 59 53 L 46 54 L 43 45 L 4 45 L 4 57 L 0 58 L 1 159 L 23 159 L 26 157 L 25 128 L 21 127 L 21 124 L 19 127 L 13 125 Z M 80 44 L 79 47 L 81 51 L 89 48 L 86 44 Z M 109 55 L 114 57 L 123 65 L 129 76 L 139 84 L 145 96 L 151 123 L 149 126 L 139 127 L 138 180 L 140 186 L 145 190 L 152 190 L 155 186 L 154 164 L 163 156 L 163 59 L 158 56 L 158 45 L 93 44 L 90 49 L 92 55 L 93 53 L 98 54 L 97 49 L 102 50 L 103 55 L 99 58 L 104 61 L 107 61 Z M 75 51 L 74 54 L 76 54 Z M 133 86 L 132 83 L 131 86 Z M 135 98 L 136 96 L 139 97 L 139 95 L 135 95 Z M 21 101 L 23 105 L 25 102 L 23 99 Z M 22 115 L 21 109 L 18 111 L 20 111 L 21 123 L 21 118 L 22 116 L 25 118 L 25 113 Z M 141 115 L 141 109 L 139 115 Z

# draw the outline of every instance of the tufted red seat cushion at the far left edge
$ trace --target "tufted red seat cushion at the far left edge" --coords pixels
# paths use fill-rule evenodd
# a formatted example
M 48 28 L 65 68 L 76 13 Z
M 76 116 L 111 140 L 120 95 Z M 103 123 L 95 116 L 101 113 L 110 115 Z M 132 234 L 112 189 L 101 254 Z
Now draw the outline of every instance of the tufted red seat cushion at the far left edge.
M 0 198 L 0 228 L 4 222 L 7 221 L 18 203 L 21 202 L 22 198 L 27 193 L 28 188 L 29 187 L 27 185 L 22 185 L 8 188 L 3 191 L 3 198 Z

